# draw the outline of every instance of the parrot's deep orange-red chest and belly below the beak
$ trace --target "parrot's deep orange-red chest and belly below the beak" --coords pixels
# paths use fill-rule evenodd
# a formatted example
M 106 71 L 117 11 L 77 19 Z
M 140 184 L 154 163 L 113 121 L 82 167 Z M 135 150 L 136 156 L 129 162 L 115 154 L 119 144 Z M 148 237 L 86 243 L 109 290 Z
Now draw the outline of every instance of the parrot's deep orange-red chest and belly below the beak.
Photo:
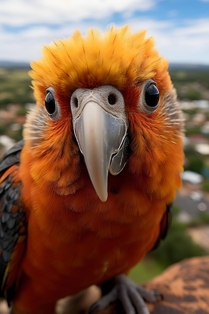
M 36 210 L 28 216 L 23 271 L 38 286 L 41 274 L 43 290 L 57 293 L 62 286 L 59 297 L 128 272 L 159 233 L 159 213 L 157 218 L 152 213 L 151 222 L 150 214 L 144 219 L 137 212 L 137 203 L 125 210 L 122 197 L 119 201 L 110 195 L 105 203 L 80 197 L 80 203 L 76 195 L 49 198 L 47 208 L 42 198 L 36 199 Z

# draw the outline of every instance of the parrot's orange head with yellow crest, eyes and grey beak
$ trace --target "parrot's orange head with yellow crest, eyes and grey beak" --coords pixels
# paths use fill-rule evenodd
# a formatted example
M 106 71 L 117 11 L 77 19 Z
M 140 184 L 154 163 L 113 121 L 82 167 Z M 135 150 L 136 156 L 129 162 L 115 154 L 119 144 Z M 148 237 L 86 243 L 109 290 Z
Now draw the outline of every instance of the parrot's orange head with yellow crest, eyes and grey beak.
M 84 171 L 105 202 L 108 178 L 126 171 L 157 193 L 164 175 L 182 170 L 182 117 L 167 66 L 153 38 L 128 26 L 44 46 L 32 63 L 37 106 L 24 130 L 32 177 L 66 195 L 84 186 Z

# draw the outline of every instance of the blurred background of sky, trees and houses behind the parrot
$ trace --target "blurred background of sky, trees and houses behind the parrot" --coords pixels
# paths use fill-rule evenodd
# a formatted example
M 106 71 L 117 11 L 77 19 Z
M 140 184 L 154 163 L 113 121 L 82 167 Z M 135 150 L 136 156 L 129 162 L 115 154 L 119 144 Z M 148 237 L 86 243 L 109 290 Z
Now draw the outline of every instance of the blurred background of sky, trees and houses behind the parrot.
M 169 71 L 185 117 L 185 173 L 173 223 L 158 249 L 130 273 L 143 282 L 183 258 L 209 253 L 209 1 L 0 0 L 0 155 L 22 138 L 34 105 L 28 70 L 51 40 L 93 26 L 147 29 Z

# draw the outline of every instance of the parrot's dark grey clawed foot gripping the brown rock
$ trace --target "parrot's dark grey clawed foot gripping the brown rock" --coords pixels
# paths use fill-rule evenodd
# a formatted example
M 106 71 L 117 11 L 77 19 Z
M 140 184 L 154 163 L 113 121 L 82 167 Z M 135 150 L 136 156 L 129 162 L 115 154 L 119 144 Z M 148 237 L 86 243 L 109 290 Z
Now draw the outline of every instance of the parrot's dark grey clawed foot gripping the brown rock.
M 95 308 L 103 310 L 118 299 L 121 301 L 126 314 L 150 314 L 144 300 L 154 303 L 158 298 L 163 298 L 160 292 L 138 286 L 125 275 L 115 277 L 114 282 L 113 289 L 91 306 L 89 314 Z

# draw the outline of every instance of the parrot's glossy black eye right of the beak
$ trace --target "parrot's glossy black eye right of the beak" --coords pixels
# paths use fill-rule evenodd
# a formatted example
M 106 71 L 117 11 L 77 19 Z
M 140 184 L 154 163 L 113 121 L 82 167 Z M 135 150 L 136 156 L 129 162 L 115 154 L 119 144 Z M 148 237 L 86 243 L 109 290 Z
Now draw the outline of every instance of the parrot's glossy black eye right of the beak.
M 140 105 L 145 112 L 154 112 L 159 105 L 159 91 L 153 80 L 145 82 L 142 88 Z

